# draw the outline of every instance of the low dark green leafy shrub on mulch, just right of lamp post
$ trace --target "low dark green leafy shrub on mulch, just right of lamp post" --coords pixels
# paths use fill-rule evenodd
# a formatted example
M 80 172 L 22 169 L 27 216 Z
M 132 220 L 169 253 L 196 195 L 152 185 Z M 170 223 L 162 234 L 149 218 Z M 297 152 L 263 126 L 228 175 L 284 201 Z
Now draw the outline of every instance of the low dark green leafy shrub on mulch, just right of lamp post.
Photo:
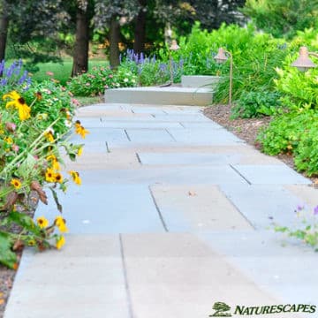
M 260 115 L 274 115 L 281 108 L 279 97 L 280 95 L 276 92 L 243 91 L 239 101 L 231 110 L 231 117 L 251 118 Z

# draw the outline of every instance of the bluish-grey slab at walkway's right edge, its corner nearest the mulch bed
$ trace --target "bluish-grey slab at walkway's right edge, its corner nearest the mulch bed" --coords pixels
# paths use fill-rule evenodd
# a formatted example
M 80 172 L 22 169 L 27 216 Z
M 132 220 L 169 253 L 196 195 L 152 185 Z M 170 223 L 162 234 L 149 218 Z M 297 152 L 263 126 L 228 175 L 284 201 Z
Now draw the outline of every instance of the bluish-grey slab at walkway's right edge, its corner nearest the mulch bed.
M 309 179 L 302 177 L 285 164 L 237 164 L 234 168 L 254 185 L 311 184 Z

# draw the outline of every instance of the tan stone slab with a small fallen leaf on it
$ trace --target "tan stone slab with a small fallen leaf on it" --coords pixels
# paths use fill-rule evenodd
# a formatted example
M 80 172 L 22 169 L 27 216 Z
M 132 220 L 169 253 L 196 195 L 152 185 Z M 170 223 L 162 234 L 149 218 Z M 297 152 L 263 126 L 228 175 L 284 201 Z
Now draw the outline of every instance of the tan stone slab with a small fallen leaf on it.
M 218 186 L 152 186 L 169 231 L 252 229 Z

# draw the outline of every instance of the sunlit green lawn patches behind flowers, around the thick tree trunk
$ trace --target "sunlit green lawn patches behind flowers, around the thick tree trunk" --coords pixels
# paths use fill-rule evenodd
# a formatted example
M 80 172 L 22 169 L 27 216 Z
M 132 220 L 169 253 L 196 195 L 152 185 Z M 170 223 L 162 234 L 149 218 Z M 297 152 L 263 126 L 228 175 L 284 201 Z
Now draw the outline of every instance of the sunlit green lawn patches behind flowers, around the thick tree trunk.
M 93 66 L 102 66 L 105 64 L 109 64 L 108 61 L 105 61 L 105 60 L 102 61 L 98 59 L 90 60 L 88 63 L 88 70 L 91 69 Z M 40 71 L 34 72 L 34 74 L 32 74 L 32 79 L 39 82 L 45 79 L 51 78 L 51 76 L 49 76 L 47 72 L 52 72 L 54 74 L 53 78 L 59 80 L 62 85 L 65 85 L 67 80 L 70 79 L 70 75 L 72 72 L 71 59 L 65 59 L 63 61 L 63 64 L 49 62 L 49 63 L 40 63 L 40 64 L 37 64 L 37 66 L 39 66 Z

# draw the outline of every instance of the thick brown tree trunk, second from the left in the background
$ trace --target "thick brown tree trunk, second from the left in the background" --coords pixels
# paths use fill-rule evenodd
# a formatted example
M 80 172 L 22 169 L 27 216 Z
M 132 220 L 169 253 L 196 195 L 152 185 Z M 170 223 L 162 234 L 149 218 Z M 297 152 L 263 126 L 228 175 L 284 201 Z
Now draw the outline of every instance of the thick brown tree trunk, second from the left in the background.
M 76 35 L 73 54 L 72 77 L 88 70 L 89 24 L 87 11 L 77 9 Z

